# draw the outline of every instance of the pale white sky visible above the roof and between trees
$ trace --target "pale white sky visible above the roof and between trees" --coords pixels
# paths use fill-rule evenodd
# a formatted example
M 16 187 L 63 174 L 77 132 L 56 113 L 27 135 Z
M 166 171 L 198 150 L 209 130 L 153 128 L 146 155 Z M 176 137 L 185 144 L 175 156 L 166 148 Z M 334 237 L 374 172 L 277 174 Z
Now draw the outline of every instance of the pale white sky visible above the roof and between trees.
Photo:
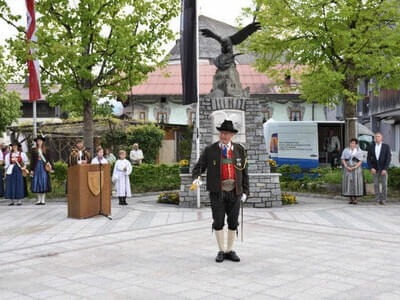
M 6 0 L 14 14 L 22 15 L 21 25 L 26 24 L 26 8 L 25 0 Z M 238 25 L 236 19 L 241 15 L 242 8 L 251 6 L 252 0 L 199 0 L 199 15 L 228 23 L 230 25 Z M 180 19 L 175 18 L 171 21 L 171 29 L 179 32 Z M 4 44 L 7 38 L 15 36 L 17 31 L 4 21 L 0 20 L 0 44 Z M 167 49 L 172 48 L 175 42 L 166 45 Z

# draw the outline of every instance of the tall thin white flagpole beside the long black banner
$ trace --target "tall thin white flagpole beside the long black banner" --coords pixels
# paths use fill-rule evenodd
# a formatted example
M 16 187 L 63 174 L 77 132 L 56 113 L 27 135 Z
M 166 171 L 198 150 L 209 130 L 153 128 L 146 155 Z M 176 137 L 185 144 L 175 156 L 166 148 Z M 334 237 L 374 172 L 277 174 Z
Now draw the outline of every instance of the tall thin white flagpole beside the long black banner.
M 196 71 L 197 71 L 197 105 L 196 105 L 196 161 L 200 158 L 200 70 L 199 70 L 199 0 L 196 1 Z M 200 186 L 197 188 L 197 208 L 200 208 Z

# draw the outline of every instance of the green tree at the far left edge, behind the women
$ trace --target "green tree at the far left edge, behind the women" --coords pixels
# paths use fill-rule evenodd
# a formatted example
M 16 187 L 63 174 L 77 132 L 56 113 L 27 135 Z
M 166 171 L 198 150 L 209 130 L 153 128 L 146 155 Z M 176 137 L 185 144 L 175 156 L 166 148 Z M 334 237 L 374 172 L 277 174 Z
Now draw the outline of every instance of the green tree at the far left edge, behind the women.
M 0 46 L 0 133 L 21 116 L 21 98 L 15 91 L 7 91 L 11 78 L 9 67 L 5 64 L 4 49 Z

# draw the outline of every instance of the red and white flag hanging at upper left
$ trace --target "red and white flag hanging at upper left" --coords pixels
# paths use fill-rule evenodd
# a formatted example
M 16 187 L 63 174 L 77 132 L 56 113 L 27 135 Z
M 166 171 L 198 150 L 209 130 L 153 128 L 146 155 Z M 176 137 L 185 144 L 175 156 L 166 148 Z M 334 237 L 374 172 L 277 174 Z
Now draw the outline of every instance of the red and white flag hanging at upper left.
M 37 43 L 36 32 L 36 17 L 35 17 L 35 0 L 25 0 L 27 9 L 28 28 L 26 39 L 28 42 L 32 41 Z M 29 54 L 32 54 L 34 49 L 32 47 L 29 50 Z M 40 88 L 40 66 L 39 61 L 28 60 L 28 72 L 29 72 L 29 101 L 36 101 L 42 98 L 42 90 Z

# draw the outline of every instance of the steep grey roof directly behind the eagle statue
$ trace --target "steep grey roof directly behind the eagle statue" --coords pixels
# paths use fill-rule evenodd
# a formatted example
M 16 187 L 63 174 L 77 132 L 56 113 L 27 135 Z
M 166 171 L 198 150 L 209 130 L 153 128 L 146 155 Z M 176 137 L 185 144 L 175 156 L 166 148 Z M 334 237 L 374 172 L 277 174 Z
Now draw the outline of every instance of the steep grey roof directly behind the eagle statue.
M 238 31 L 236 27 L 226 24 L 224 22 L 214 20 L 206 16 L 199 16 L 199 29 L 205 29 L 205 28 L 210 29 L 211 31 L 213 31 L 214 33 L 216 33 L 221 37 L 230 36 Z M 217 57 L 221 53 L 221 45 L 216 40 L 211 38 L 206 38 L 202 36 L 200 33 L 199 33 L 199 46 L 200 46 L 200 53 L 199 53 L 200 59 L 212 59 Z M 236 49 L 234 53 L 239 53 L 239 51 Z M 170 51 L 169 55 L 170 55 L 169 57 L 170 61 L 179 61 L 181 59 L 180 40 L 176 41 L 176 44 Z M 238 64 L 249 65 L 255 61 L 255 56 L 251 54 L 243 54 L 236 56 L 235 59 Z

